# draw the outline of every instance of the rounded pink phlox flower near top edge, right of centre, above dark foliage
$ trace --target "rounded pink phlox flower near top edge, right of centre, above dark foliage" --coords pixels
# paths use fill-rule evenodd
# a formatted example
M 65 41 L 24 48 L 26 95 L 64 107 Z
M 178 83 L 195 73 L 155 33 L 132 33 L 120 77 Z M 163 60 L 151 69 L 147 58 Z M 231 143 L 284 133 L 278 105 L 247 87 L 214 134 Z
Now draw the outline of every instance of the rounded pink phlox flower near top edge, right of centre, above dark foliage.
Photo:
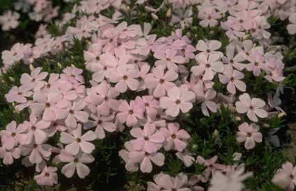
M 201 19 L 199 24 L 204 28 L 207 26 L 214 27 L 218 24 L 218 21 L 221 18 L 221 13 L 216 12 L 215 8 L 212 6 L 207 6 L 202 10 L 199 10 L 198 19 Z

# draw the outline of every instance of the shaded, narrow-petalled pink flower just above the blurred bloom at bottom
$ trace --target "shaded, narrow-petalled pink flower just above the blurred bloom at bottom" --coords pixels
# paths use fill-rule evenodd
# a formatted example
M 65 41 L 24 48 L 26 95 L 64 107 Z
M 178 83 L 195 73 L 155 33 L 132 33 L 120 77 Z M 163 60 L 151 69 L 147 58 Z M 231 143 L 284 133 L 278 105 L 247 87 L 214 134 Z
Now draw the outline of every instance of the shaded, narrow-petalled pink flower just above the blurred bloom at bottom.
M 197 156 L 196 162 L 198 162 L 199 165 L 203 165 L 203 166 L 207 167 L 207 169 L 205 169 L 205 171 L 203 171 L 202 174 L 198 175 L 198 178 L 203 183 L 208 182 L 208 180 L 210 178 L 210 174 L 212 174 L 212 176 L 215 176 L 215 174 L 218 171 L 221 171 L 226 168 L 225 165 L 221 165 L 221 164 L 216 163 L 217 159 L 218 159 L 217 155 L 215 155 L 212 158 L 209 158 L 207 160 L 205 160 L 200 155 Z

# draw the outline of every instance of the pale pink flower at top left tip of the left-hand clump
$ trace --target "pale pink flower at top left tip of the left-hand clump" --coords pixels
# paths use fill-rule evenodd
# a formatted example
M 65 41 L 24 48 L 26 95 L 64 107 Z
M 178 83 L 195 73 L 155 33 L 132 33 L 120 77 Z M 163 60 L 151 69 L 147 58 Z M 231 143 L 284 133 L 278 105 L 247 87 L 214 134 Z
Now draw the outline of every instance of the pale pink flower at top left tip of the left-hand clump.
M 43 86 L 45 86 L 45 81 L 42 79 L 45 79 L 47 77 L 48 72 L 40 72 L 41 68 L 35 68 L 31 75 L 28 75 L 27 73 L 22 74 L 20 82 L 23 85 L 31 86 L 31 89 L 41 89 Z

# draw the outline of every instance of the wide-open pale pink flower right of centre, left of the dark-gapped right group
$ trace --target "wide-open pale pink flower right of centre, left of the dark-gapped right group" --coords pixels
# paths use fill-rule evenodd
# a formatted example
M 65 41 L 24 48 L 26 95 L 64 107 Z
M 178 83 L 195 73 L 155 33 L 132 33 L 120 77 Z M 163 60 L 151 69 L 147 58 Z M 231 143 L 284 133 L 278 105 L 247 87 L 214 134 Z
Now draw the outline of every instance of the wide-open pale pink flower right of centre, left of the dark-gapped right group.
M 224 64 L 219 61 L 221 57 L 218 54 L 210 54 L 208 58 L 205 54 L 197 54 L 195 59 L 198 66 L 193 66 L 191 71 L 194 76 L 203 75 L 203 80 L 212 80 L 216 72 L 224 71 Z

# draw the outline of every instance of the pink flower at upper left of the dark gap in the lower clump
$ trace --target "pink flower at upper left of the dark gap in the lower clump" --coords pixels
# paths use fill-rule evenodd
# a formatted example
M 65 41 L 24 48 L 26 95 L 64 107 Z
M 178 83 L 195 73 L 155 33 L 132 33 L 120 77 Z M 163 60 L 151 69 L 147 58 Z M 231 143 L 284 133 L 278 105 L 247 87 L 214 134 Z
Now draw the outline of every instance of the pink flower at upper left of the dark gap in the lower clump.
M 114 124 L 114 115 L 101 116 L 100 109 L 97 108 L 97 114 L 91 114 L 91 119 L 94 121 L 88 121 L 84 124 L 84 129 L 95 127 L 95 135 L 99 139 L 104 139 L 106 137 L 104 130 L 108 132 L 114 132 L 116 130 L 116 125 Z

